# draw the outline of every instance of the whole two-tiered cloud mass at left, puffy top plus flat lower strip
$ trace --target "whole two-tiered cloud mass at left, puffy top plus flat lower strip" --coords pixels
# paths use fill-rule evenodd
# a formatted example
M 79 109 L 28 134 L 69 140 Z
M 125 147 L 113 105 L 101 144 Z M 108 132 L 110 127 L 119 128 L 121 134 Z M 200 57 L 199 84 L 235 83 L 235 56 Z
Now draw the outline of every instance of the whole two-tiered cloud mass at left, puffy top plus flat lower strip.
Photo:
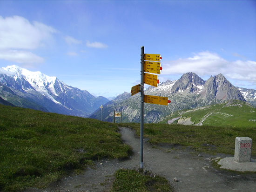
M 50 43 L 54 33 L 57 30 L 53 27 L 37 21 L 30 23 L 20 16 L 0 16 L 0 59 L 20 63 L 22 66 L 43 63 L 42 57 L 28 50 Z

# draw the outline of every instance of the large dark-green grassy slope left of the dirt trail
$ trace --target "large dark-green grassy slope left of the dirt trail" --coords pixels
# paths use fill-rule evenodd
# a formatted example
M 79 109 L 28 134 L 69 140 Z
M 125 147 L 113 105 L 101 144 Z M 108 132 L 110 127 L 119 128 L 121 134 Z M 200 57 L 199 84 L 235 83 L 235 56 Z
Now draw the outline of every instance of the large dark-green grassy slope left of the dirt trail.
M 44 187 L 94 159 L 127 157 L 117 131 L 94 119 L 0 105 L 0 190 Z

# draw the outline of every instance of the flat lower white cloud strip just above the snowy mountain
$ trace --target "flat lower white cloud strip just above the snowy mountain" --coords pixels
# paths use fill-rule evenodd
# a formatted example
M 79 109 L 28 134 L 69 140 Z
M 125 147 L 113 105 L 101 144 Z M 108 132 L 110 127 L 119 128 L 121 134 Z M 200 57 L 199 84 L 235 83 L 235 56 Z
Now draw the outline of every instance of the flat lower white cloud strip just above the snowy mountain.
M 18 50 L 0 50 L 0 59 L 14 61 L 17 63 L 43 63 L 44 59 L 34 53 Z

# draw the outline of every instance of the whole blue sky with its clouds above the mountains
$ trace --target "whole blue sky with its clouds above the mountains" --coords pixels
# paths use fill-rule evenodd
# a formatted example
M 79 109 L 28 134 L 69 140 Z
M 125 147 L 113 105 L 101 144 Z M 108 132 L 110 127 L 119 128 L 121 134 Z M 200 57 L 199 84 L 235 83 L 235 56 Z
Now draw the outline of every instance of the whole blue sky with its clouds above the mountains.
M 56 76 L 94 95 L 140 81 L 140 47 L 161 82 L 222 73 L 256 89 L 255 0 L 0 0 L 0 67 Z

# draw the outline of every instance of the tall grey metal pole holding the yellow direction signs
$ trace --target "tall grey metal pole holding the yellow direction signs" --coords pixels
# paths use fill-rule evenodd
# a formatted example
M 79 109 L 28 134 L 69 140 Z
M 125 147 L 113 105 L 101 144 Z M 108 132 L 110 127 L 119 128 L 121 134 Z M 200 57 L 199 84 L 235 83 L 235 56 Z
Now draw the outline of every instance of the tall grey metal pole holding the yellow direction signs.
M 144 134 L 144 46 L 141 46 L 141 166 L 143 171 L 143 134 Z

